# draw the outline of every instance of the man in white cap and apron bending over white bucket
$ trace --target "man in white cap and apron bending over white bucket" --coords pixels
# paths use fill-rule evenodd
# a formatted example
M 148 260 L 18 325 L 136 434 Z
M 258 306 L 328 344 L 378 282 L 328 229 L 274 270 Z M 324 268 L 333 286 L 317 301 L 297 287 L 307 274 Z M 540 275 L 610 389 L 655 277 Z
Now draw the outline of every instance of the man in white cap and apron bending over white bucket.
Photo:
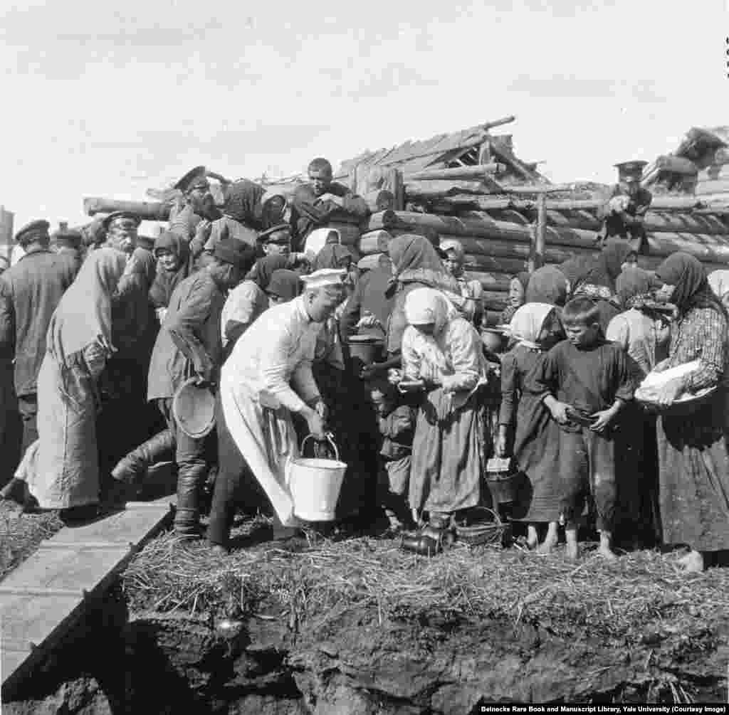
M 217 398 L 219 472 L 208 542 L 227 552 L 235 496 L 250 472 L 284 526 L 295 525 L 288 467 L 298 456 L 292 413 L 324 438 L 326 407 L 311 373 L 321 326 L 346 297 L 345 270 L 302 276 L 303 295 L 262 313 L 222 368 Z

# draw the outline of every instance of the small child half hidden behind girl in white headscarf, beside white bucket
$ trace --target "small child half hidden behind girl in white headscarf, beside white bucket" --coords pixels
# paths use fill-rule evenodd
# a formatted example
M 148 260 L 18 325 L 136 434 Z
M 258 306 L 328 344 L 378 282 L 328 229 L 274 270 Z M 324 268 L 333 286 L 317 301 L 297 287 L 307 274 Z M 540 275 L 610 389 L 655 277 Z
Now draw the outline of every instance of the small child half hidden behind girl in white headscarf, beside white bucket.
M 391 531 L 400 531 L 408 522 L 408 487 L 416 413 L 397 394 L 387 380 L 378 380 L 370 388 L 370 397 L 378 415 L 382 446 L 378 487 L 380 504 L 390 522 Z

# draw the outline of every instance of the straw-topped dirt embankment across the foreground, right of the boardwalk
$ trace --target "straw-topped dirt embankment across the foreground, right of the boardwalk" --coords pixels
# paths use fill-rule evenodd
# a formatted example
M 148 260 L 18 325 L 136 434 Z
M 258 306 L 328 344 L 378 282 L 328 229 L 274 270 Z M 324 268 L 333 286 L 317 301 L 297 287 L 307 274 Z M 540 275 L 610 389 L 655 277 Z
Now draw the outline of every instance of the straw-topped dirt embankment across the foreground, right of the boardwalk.
M 445 715 L 489 703 L 724 703 L 726 569 L 516 550 L 161 537 L 4 712 Z M 133 609 L 130 614 L 127 609 Z

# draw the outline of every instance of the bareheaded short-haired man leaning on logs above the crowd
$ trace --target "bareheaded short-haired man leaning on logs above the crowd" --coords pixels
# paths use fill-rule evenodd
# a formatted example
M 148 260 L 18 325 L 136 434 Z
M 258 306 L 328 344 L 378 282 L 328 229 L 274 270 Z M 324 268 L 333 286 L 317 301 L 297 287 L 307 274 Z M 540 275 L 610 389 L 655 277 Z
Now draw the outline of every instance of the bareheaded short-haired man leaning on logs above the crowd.
M 367 202 L 343 184 L 333 181 L 332 165 L 321 157 L 308 166 L 308 184 L 297 188 L 291 200 L 291 230 L 294 247 L 303 251 L 306 237 L 331 222 L 359 224 L 367 218 Z

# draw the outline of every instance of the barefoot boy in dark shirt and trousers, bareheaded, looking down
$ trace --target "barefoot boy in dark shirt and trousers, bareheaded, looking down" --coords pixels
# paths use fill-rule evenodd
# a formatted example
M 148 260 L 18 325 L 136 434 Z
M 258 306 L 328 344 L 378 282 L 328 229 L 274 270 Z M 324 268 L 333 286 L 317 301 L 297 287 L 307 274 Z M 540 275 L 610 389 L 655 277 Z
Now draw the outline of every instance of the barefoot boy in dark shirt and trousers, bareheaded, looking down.
M 577 558 L 577 515 L 588 476 L 597 509 L 599 552 L 615 558 L 611 548 L 615 522 L 615 423 L 634 384 L 620 345 L 608 343 L 593 300 L 570 300 L 562 312 L 566 340 L 555 345 L 527 380 L 527 389 L 542 394 L 561 425 L 559 464 L 567 555 Z

